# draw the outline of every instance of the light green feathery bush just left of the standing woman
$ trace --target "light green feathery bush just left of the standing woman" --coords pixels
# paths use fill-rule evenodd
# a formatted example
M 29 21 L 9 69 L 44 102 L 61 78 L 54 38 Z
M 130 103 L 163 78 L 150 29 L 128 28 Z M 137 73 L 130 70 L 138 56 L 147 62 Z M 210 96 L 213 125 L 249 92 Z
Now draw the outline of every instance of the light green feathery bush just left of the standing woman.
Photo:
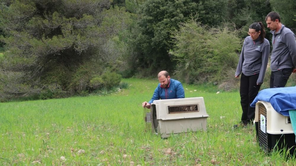
M 178 60 L 176 76 L 187 83 L 217 82 L 228 78 L 236 68 L 242 39 L 233 25 L 210 28 L 190 20 L 175 31 L 175 48 L 170 52 Z

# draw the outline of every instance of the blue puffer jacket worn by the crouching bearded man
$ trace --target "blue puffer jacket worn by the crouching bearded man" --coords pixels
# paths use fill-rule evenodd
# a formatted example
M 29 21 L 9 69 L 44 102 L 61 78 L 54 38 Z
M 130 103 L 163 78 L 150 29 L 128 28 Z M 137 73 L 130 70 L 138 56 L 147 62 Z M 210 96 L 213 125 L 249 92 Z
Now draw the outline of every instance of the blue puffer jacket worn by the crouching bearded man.
M 185 98 L 184 88 L 181 82 L 170 79 L 168 87 L 163 88 L 160 86 L 160 83 L 154 90 L 152 99 L 148 102 L 149 104 L 153 103 L 154 100 L 159 99 L 176 99 L 176 98 Z

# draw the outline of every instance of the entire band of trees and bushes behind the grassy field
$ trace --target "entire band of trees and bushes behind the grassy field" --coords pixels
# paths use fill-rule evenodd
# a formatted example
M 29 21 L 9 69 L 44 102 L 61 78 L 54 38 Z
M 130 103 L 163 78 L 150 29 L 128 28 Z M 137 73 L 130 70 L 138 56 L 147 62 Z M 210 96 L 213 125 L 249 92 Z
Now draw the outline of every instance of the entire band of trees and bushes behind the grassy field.
M 121 77 L 151 77 L 160 70 L 190 84 L 235 89 L 248 26 L 265 24 L 275 10 L 295 30 L 293 5 L 287 4 L 291 0 L 5 0 L 0 95 L 107 94 Z

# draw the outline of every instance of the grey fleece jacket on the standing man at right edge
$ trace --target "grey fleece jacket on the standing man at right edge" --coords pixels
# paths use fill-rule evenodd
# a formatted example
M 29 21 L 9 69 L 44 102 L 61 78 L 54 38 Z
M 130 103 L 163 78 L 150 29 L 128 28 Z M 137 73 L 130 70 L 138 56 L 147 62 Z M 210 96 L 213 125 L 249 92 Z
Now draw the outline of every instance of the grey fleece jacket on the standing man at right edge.
M 271 71 L 282 68 L 296 67 L 296 41 L 295 34 L 285 25 L 281 29 L 270 31 L 272 33 L 272 54 L 270 58 Z

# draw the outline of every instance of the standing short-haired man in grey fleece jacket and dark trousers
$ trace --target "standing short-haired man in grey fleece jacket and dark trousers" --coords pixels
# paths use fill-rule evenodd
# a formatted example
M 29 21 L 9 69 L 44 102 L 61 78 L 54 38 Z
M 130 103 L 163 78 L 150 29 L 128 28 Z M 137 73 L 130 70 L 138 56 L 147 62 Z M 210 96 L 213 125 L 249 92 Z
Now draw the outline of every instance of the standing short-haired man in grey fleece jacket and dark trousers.
M 270 88 L 285 87 L 291 73 L 296 72 L 295 34 L 281 23 L 278 13 L 270 12 L 265 18 L 272 33 Z

